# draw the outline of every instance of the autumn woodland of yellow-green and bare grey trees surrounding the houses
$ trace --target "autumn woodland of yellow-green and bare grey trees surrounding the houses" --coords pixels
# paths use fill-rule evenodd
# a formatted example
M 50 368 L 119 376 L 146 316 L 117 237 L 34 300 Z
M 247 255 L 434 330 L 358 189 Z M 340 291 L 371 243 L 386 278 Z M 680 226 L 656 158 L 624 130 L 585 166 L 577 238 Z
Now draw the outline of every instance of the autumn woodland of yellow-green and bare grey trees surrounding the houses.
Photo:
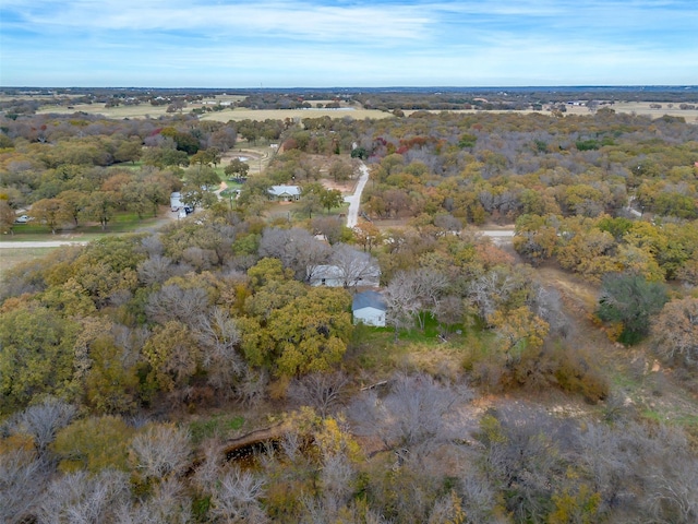
M 3 272 L 0 521 L 698 520 L 698 127 L 389 109 L 0 117 L 3 233 L 106 231 Z M 360 162 L 349 229 L 324 182 Z M 109 234 L 172 191 L 193 216 Z M 387 325 L 354 325 L 376 266 Z

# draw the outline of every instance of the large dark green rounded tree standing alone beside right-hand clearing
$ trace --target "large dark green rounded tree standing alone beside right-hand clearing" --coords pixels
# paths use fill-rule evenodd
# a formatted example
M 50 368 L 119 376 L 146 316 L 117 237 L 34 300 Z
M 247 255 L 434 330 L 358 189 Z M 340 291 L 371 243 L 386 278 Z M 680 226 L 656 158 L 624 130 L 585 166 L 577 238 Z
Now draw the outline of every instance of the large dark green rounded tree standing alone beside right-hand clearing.
M 601 282 L 597 315 L 606 322 L 619 322 L 619 340 L 634 344 L 648 334 L 650 320 L 667 300 L 666 287 L 661 283 L 631 273 L 609 273 Z

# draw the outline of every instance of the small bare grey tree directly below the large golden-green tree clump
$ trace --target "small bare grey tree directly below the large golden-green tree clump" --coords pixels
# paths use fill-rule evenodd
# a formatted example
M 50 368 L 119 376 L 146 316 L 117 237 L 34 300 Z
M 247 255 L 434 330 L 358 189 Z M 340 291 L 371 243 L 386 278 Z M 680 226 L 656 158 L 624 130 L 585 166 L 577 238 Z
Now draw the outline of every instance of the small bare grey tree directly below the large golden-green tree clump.
M 293 379 L 288 388 L 288 396 L 301 406 L 311 406 L 325 418 L 341 405 L 349 378 L 341 371 L 334 373 L 311 373 Z

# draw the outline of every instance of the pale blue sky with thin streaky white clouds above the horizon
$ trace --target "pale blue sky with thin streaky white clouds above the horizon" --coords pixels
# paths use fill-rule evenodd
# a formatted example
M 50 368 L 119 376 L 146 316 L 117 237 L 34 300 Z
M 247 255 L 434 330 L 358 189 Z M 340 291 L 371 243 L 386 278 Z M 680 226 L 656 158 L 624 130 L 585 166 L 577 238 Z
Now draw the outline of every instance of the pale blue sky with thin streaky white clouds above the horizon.
M 697 0 L 0 0 L 0 85 L 698 84 Z

